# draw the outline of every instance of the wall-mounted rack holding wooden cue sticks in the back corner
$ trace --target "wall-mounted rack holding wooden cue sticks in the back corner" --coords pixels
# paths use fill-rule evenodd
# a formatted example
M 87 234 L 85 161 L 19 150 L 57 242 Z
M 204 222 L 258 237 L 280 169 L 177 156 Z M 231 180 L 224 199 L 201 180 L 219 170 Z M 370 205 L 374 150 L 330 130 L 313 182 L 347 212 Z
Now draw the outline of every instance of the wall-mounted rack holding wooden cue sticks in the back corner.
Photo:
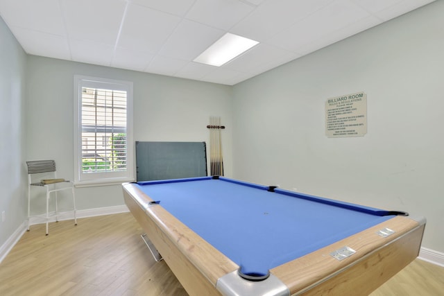
M 221 130 L 225 128 L 221 125 L 221 117 L 210 116 L 210 174 L 223 176 L 223 155 Z

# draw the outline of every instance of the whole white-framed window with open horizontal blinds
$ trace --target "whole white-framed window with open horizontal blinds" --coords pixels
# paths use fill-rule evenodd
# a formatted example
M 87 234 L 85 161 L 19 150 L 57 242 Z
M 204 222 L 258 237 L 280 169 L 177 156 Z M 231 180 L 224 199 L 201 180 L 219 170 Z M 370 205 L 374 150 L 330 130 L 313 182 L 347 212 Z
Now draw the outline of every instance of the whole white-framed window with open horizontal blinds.
M 74 76 L 75 182 L 133 180 L 133 82 Z

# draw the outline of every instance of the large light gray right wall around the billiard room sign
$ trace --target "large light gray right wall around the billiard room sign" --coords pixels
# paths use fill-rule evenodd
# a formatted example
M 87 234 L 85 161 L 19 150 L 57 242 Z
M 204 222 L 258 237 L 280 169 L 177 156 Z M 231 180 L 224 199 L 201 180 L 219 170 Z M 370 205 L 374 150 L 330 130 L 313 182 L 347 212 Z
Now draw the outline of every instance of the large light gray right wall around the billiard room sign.
M 425 216 L 444 252 L 444 1 L 234 87 L 234 177 Z M 368 133 L 327 138 L 327 98 L 365 92 Z

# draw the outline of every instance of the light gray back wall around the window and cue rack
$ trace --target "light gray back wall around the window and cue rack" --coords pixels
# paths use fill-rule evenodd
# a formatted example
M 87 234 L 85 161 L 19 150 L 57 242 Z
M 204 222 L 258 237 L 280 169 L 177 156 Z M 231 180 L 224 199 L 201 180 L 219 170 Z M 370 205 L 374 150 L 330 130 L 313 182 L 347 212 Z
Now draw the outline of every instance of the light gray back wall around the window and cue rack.
M 231 175 L 232 87 L 34 55 L 27 63 L 28 159 L 56 159 L 58 175 L 73 180 L 75 74 L 133 82 L 135 141 L 209 143 L 210 116 L 221 116 L 228 126 L 223 131 L 225 171 Z M 76 202 L 79 210 L 121 205 L 121 186 L 78 188 Z M 37 211 L 43 206 L 37 204 Z

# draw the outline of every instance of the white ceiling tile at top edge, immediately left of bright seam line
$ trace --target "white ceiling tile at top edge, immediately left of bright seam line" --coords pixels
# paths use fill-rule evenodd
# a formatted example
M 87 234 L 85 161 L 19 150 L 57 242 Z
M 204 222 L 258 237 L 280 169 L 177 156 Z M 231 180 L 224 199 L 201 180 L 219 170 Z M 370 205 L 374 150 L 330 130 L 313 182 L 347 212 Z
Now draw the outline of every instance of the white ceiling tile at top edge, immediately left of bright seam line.
M 61 0 L 69 38 L 115 44 L 126 2 L 123 0 Z

